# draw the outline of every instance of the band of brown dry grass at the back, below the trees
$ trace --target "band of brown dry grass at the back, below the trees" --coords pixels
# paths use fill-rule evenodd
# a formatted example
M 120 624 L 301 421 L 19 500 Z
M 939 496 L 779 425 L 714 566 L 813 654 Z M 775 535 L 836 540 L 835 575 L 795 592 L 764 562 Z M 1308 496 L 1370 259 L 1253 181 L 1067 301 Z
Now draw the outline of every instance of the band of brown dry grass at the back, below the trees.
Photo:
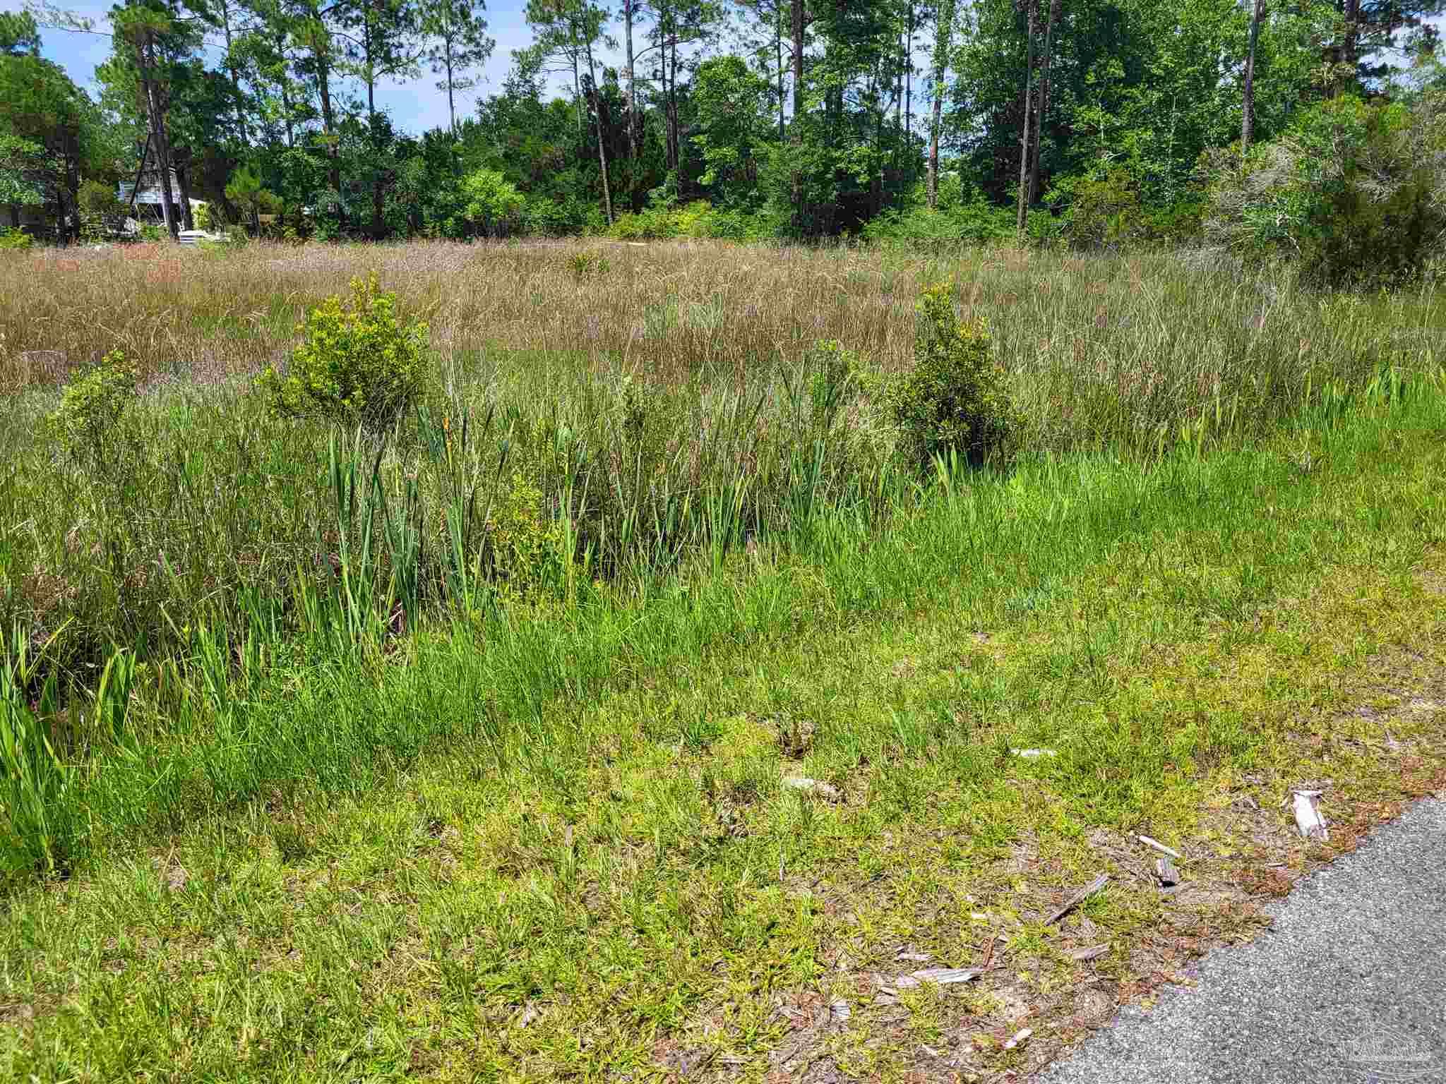
M 583 273 L 578 253 L 606 259 Z M 0 260 L 0 395 L 123 350 L 143 374 L 254 373 L 308 305 L 376 272 L 431 325 L 453 380 L 502 351 L 567 354 L 649 380 L 746 383 L 818 340 L 907 364 L 914 301 L 953 278 L 993 328 L 1035 439 L 1151 445 L 1181 421 L 1270 423 L 1307 382 L 1356 383 L 1439 347 L 1434 293 L 1322 299 L 1288 276 L 1171 254 L 975 250 L 920 257 L 713 241 L 253 244 L 42 250 Z M 59 351 L 59 353 L 38 353 Z M 736 384 L 735 384 L 736 386 Z

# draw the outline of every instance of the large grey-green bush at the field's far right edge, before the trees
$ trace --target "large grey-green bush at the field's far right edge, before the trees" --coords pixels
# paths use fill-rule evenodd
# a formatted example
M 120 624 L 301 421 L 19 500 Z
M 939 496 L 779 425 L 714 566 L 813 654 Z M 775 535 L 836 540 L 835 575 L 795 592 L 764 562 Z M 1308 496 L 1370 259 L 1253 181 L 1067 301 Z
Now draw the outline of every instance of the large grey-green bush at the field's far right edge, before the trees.
M 1323 283 L 1391 283 L 1440 251 L 1446 95 L 1414 106 L 1339 97 L 1280 140 L 1206 156 L 1207 236 L 1236 254 L 1299 259 Z

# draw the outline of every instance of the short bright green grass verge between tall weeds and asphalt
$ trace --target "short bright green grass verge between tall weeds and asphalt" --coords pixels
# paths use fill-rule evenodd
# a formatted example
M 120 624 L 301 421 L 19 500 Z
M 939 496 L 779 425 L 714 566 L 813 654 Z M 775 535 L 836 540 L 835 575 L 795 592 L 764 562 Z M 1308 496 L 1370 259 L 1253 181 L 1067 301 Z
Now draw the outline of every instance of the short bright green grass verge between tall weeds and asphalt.
M 143 665 L 130 737 L 68 780 L 74 874 L 12 880 L 0 1071 L 1028 1068 L 1079 1033 L 1069 948 L 1108 942 L 1111 1000 L 1145 996 L 1246 935 L 1271 861 L 1326 857 L 1288 786 L 1330 778 L 1348 841 L 1446 778 L 1443 468 L 1446 389 L 1377 384 L 1209 455 L 962 474 L 885 530 L 818 515 L 388 650 L 257 601 Z M 1132 876 L 1128 831 L 1199 890 Z M 967 965 L 986 935 L 976 984 L 879 999 L 901 951 Z

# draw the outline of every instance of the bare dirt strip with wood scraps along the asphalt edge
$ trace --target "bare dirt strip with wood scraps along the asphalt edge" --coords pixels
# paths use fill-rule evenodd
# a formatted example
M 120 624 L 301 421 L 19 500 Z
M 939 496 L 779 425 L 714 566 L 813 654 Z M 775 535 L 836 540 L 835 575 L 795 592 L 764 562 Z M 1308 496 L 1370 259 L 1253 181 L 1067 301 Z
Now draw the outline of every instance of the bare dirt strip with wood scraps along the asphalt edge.
M 1446 594 L 1446 577 L 1433 582 Z M 1057 885 L 1050 885 L 1060 872 L 1045 869 L 1038 840 L 1022 833 L 995 869 L 979 872 L 982 885 L 1002 877 L 1014 886 L 1009 908 L 1019 918 L 995 926 L 998 916 L 991 915 L 980 939 L 996 939 L 976 980 L 911 999 L 902 991 L 876 993 L 891 974 L 888 967 L 904 964 L 850 961 L 840 977 L 872 980 L 860 987 L 875 993 L 852 1007 L 844 1026 L 816 993 L 794 991 L 787 1015 L 795 1026 L 769 1057 L 766 1078 L 856 1078 L 857 1065 L 840 1054 L 852 1049 L 855 1058 L 886 1064 L 902 1080 L 1024 1080 L 1066 1057 L 1122 1006 L 1148 1007 L 1161 987 L 1193 984 L 1202 957 L 1254 939 L 1303 876 L 1355 850 L 1374 827 L 1400 815 L 1404 802 L 1446 786 L 1446 765 L 1434 753 L 1446 739 L 1446 669 L 1401 648 L 1371 659 L 1366 681 L 1358 705 L 1297 727 L 1291 743 L 1300 749 L 1299 778 L 1248 776 L 1200 814 L 1197 838 L 1178 847 L 1181 883 L 1160 883 L 1154 866 L 1160 854 L 1135 835 L 1108 828 L 1086 834 L 1099 869 L 1111 874 L 1115 900 L 1151 911 L 1154 921 L 1115 935 L 1108 921 L 1077 911 L 1047 928 L 1041 945 L 1038 926 L 1031 924 L 1057 905 Z M 1368 727 L 1364 737 L 1351 737 L 1362 723 Z M 1411 737 L 1395 740 L 1392 730 Z M 1306 778 L 1309 765 L 1319 763 L 1314 754 L 1330 741 L 1349 741 L 1371 759 L 1374 775 Z M 1306 785 L 1325 791 L 1327 841 L 1301 838 L 1293 821 L 1290 791 Z M 873 887 L 888 890 L 886 885 Z M 980 961 L 954 963 L 973 967 Z M 857 970 L 849 973 L 849 967 Z M 921 1041 L 921 1035 L 930 1038 Z M 850 1070 L 843 1077 L 840 1064 Z M 733 1078 L 739 1068 L 714 1061 L 701 1075 Z

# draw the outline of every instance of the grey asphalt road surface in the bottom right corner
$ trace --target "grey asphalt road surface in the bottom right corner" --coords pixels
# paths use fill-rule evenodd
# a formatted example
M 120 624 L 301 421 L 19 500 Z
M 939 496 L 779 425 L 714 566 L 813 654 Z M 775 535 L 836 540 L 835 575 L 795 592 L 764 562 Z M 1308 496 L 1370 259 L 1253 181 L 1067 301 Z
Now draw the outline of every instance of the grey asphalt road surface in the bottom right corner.
M 1301 880 L 1271 931 L 1196 977 L 1041 1084 L 1446 1083 L 1446 802 Z

